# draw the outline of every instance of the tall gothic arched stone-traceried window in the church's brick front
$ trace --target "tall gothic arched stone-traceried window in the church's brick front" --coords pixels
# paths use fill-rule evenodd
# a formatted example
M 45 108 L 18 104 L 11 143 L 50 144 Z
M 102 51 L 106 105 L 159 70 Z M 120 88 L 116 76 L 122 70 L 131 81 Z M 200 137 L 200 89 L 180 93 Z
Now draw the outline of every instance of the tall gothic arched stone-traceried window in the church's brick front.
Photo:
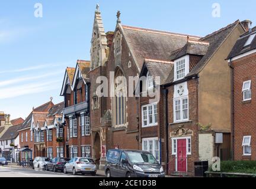
M 116 126 L 126 123 L 126 78 L 121 70 L 115 74 L 115 116 Z

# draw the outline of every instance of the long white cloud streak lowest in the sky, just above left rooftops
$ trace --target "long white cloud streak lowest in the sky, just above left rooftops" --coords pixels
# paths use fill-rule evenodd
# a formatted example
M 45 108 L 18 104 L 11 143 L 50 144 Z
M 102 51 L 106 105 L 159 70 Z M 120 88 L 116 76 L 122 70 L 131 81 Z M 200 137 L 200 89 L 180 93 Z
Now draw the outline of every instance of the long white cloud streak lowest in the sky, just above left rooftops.
M 10 99 L 24 94 L 41 93 L 48 90 L 56 89 L 62 80 L 44 83 L 24 84 L 21 86 L 8 87 L 0 89 L 0 99 Z

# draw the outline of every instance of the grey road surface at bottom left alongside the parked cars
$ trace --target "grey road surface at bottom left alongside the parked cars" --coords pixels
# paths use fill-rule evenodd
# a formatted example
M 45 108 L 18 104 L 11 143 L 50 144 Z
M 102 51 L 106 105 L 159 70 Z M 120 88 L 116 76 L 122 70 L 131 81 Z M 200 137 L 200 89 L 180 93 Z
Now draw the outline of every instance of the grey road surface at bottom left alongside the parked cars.
M 0 178 L 1 177 L 92 177 L 91 175 L 72 175 L 63 174 L 61 172 L 49 172 L 41 170 L 32 170 L 27 168 L 11 168 L 0 166 Z M 103 177 L 103 175 L 96 175 L 96 177 Z

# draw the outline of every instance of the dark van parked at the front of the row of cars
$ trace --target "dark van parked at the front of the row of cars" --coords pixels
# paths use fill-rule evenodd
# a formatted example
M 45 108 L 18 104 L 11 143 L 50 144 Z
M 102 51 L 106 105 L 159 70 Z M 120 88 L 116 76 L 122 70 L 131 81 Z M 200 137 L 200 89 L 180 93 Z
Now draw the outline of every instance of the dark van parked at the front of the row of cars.
M 111 149 L 104 170 L 107 177 L 165 177 L 164 168 L 145 151 Z

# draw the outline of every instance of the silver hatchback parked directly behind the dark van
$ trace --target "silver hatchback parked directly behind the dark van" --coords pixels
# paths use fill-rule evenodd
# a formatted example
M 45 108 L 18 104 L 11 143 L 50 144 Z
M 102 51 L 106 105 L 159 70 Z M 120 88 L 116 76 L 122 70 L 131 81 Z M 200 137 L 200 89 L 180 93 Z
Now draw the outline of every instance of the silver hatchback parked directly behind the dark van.
M 78 173 L 91 174 L 93 176 L 97 173 L 97 167 L 92 158 L 72 158 L 64 166 L 64 173 L 72 172 L 73 175 Z

